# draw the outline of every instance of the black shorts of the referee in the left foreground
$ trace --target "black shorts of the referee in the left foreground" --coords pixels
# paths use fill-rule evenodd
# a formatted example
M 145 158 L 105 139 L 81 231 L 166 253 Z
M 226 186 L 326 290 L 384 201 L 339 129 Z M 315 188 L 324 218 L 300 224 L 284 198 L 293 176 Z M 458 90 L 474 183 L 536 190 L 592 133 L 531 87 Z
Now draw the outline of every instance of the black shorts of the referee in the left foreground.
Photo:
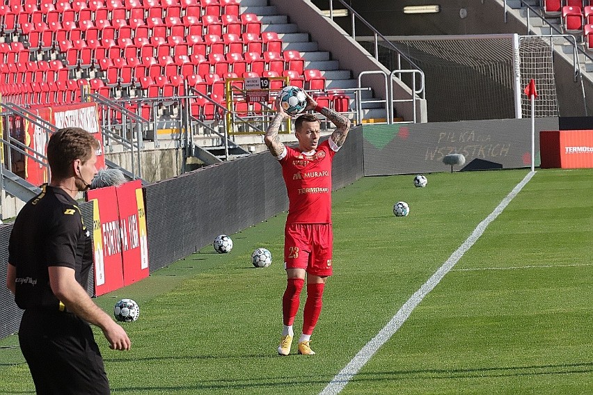
M 26 309 L 19 344 L 37 394 L 109 394 L 93 330 L 74 314 Z

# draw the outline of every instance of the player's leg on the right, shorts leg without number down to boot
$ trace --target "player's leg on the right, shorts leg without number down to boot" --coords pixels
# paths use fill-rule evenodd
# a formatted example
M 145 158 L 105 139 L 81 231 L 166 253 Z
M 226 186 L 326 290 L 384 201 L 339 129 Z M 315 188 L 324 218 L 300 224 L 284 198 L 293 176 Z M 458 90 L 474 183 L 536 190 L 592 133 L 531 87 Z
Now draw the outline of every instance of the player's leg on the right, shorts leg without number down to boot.
M 303 334 L 299 339 L 299 353 L 313 355 L 310 338 L 323 307 L 323 293 L 327 277 L 333 273 L 333 236 L 331 225 L 313 225 L 313 248 L 307 273 L 307 300 L 303 312 Z

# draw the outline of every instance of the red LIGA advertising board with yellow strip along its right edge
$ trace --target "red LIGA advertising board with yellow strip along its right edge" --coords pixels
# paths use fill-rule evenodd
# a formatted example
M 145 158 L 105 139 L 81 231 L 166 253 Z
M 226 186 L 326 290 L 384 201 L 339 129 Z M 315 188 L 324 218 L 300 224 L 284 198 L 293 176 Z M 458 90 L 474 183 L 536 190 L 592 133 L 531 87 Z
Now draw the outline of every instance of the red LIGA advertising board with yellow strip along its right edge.
M 137 192 L 141 200 L 136 198 Z M 120 211 L 124 285 L 148 277 L 146 218 L 140 180 L 127 182 L 116 188 Z

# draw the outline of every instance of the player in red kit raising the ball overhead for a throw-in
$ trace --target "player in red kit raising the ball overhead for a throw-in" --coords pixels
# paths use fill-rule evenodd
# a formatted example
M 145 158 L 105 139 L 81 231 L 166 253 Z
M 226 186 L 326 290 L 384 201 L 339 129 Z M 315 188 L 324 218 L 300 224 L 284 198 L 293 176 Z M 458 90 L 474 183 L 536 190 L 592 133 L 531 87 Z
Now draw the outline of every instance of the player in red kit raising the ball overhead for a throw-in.
M 288 193 L 288 216 L 284 231 L 284 261 L 287 285 L 282 298 L 284 328 L 278 354 L 290 354 L 292 323 L 299 311 L 301 290 L 307 280 L 307 300 L 303 311 L 303 334 L 299 354 L 313 355 L 310 337 L 322 309 L 322 296 L 327 277 L 332 274 L 333 232 L 331 229 L 331 162 L 344 144 L 350 120 L 330 108 L 320 107 L 307 95 L 305 111 L 322 113 L 335 124 L 328 140 L 319 144 L 319 120 L 305 113 L 294 122 L 299 147 L 286 147 L 280 142 L 278 129 L 289 117 L 279 99 L 276 117 L 266 131 L 264 141 L 282 166 Z

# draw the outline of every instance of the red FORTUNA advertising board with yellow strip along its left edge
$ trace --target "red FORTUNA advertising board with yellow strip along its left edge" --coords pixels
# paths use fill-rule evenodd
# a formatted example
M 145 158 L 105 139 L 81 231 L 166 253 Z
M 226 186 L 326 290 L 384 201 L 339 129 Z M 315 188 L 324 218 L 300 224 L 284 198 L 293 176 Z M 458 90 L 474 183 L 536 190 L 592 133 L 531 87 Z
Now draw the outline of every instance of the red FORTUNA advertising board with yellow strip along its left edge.
M 91 189 L 87 200 L 93 205 L 93 246 L 95 257 L 95 295 L 123 287 L 120 216 L 115 186 Z

